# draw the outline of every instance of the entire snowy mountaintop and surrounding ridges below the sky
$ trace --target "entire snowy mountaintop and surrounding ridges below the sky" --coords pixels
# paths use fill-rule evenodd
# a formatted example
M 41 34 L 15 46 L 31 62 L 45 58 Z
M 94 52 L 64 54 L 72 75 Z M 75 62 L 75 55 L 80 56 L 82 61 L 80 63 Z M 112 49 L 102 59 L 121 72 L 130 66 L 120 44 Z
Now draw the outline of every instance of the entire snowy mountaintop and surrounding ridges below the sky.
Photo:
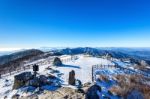
M 135 92 L 141 99 L 148 99 L 150 68 L 139 58 L 145 52 L 124 53 L 98 48 L 66 48 L 48 52 L 32 49 L 2 56 L 5 63 L 0 65 L 0 98 L 85 99 L 92 96 L 121 99 Z M 54 66 L 55 58 L 63 64 Z M 39 65 L 37 77 L 32 70 L 35 64 Z M 73 85 L 70 80 L 75 81 Z

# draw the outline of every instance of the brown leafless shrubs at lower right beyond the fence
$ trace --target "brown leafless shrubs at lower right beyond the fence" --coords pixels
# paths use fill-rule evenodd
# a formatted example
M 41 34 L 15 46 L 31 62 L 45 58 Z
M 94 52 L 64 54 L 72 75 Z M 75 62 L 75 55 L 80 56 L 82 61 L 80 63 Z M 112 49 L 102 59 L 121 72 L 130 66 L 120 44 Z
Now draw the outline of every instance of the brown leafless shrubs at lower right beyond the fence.
M 126 97 L 129 92 L 136 89 L 140 91 L 144 99 L 150 97 L 150 86 L 145 85 L 142 81 L 146 80 L 141 75 L 117 75 L 116 79 L 119 86 L 114 86 L 110 89 L 111 92 L 115 92 L 117 95 Z

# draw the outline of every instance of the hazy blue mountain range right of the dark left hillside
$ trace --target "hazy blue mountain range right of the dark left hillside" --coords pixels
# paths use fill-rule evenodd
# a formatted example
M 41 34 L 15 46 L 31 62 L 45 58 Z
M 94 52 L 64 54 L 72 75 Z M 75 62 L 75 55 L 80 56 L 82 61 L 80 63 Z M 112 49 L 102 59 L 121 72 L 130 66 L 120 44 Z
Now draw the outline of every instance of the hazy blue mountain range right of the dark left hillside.
M 91 47 L 79 47 L 79 48 L 65 48 L 55 50 L 60 54 L 74 55 L 74 54 L 89 54 L 92 56 L 104 56 L 109 54 L 110 56 L 118 59 L 129 58 L 132 61 L 144 60 L 150 64 L 150 49 L 149 48 L 91 48 Z

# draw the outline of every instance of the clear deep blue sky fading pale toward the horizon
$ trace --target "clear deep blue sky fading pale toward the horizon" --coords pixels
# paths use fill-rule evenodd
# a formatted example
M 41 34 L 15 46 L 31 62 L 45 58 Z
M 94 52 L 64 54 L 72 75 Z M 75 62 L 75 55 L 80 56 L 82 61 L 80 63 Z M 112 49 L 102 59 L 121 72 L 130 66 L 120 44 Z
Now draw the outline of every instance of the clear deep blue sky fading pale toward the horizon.
M 150 0 L 0 0 L 0 48 L 150 47 Z

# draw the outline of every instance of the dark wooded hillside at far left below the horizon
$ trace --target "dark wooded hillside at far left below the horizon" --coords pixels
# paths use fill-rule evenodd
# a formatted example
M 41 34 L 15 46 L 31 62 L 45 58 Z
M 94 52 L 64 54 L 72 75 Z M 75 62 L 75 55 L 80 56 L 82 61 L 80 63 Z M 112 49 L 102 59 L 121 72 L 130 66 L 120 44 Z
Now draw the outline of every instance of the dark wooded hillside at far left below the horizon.
M 42 54 L 44 53 L 40 50 L 31 49 L 0 56 L 0 73 L 16 70 L 25 62 L 38 59 Z

